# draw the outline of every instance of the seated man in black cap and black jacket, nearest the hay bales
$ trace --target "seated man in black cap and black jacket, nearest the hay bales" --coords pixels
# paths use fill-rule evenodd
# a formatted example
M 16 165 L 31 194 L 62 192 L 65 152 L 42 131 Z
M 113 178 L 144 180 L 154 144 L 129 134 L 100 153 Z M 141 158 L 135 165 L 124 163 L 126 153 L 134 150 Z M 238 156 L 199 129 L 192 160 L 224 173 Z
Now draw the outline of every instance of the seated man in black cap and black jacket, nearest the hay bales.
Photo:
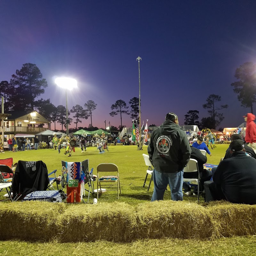
M 220 162 L 205 195 L 213 200 L 227 200 L 237 204 L 256 204 L 256 159 L 246 156 L 242 140 L 230 144 L 231 158 Z M 209 181 L 208 181 L 209 182 Z

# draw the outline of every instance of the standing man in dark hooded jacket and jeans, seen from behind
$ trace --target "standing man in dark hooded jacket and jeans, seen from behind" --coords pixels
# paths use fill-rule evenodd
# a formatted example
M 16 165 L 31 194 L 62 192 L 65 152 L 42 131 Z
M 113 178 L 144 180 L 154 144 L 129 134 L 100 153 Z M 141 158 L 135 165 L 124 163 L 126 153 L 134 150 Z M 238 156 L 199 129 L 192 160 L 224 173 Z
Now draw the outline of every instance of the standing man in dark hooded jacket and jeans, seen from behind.
M 178 116 L 168 113 L 164 123 L 151 133 L 148 145 L 148 155 L 154 165 L 151 202 L 164 199 L 168 184 L 172 200 L 183 200 L 183 168 L 189 161 L 190 153 L 188 138 L 179 126 Z

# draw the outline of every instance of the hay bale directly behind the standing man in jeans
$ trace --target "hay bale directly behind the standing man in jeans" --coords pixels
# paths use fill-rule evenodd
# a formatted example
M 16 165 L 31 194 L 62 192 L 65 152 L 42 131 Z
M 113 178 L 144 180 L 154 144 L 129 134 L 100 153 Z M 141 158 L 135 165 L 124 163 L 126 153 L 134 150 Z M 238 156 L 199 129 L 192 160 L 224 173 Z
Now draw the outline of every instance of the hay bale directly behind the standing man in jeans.
M 138 237 L 214 238 L 218 236 L 212 216 L 196 203 L 155 201 L 137 207 Z

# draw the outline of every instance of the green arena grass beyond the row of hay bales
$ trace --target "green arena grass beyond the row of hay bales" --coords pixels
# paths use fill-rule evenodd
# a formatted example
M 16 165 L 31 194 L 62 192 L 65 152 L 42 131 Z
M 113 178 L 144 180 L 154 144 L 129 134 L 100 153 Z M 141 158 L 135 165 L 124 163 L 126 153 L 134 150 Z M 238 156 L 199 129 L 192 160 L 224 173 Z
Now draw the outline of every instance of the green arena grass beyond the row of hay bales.
M 225 155 L 228 145 L 218 145 L 217 148 L 211 150 L 212 156 L 207 154 L 207 163 L 219 164 L 220 158 Z M 113 163 L 118 166 L 120 172 L 120 182 L 122 194 L 119 197 L 120 202 L 126 202 L 131 204 L 138 204 L 151 199 L 153 193 L 153 184 L 149 191 L 147 188 L 143 188 L 143 182 L 146 176 L 147 166 L 143 160 L 142 154 L 148 154 L 147 146 L 143 147 L 143 150 L 137 150 L 137 146 L 109 146 L 109 152 L 105 151 L 104 154 L 99 154 L 96 147 L 89 147 L 85 153 L 81 153 L 80 148 L 75 149 L 76 152 L 72 152 L 72 157 L 64 155 L 64 149 L 61 149 L 60 154 L 58 150 L 54 149 L 39 149 L 28 150 L 22 152 L 9 152 L 0 154 L 0 159 L 13 157 L 13 162 L 18 160 L 24 161 L 38 161 L 42 160 L 46 165 L 48 172 L 52 172 L 57 169 L 57 175 L 61 174 L 61 160 L 80 162 L 85 159 L 89 159 L 89 170 L 93 167 L 94 174 L 97 174 L 97 165 L 101 163 Z M 148 181 L 150 176 L 148 175 Z M 95 187 L 97 187 L 97 183 Z M 85 185 L 86 187 L 86 185 Z M 92 198 L 90 202 L 92 202 Z M 164 199 L 170 199 L 170 190 L 165 192 Z M 107 192 L 100 196 L 101 202 L 113 202 L 116 200 L 116 192 Z M 192 200 L 195 198 L 184 197 L 184 200 Z

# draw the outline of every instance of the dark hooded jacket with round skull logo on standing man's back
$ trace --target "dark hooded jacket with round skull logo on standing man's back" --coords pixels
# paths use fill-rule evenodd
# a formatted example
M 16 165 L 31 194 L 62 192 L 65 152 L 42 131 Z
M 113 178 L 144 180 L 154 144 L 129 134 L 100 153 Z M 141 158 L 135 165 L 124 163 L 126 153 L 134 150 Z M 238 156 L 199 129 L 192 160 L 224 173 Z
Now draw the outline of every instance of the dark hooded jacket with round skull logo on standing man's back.
M 189 161 L 191 148 L 180 126 L 165 120 L 151 133 L 148 155 L 158 172 L 179 172 Z

